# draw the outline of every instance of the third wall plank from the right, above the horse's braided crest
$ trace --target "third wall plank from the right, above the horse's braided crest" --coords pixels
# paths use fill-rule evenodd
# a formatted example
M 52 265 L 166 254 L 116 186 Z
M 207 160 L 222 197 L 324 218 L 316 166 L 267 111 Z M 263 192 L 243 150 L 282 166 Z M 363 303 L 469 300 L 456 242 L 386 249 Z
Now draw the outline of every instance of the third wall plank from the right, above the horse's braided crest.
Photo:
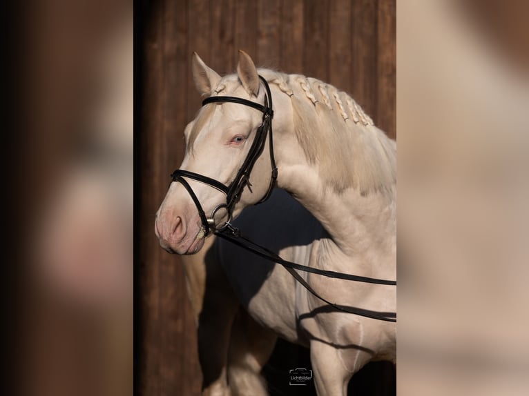
M 329 80 L 340 90 L 352 92 L 352 3 L 334 0 L 329 10 Z

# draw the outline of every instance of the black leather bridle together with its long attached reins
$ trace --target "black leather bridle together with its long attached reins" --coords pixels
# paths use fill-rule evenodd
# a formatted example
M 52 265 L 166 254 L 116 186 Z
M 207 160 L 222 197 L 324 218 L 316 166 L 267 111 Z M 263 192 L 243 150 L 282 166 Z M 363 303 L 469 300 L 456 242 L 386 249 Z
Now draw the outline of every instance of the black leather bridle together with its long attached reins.
M 335 308 L 336 310 L 340 310 L 345 313 L 352 313 L 354 315 L 360 315 L 363 317 L 369 317 L 372 319 L 378 319 L 382 321 L 392 321 L 396 322 L 396 313 L 387 313 L 387 312 L 376 312 L 372 310 L 365 310 L 362 308 L 355 308 L 351 306 L 343 306 L 334 304 L 331 301 L 328 301 L 324 297 L 321 297 L 314 288 L 312 288 L 305 279 L 301 277 L 301 275 L 297 272 L 304 271 L 307 273 L 313 273 L 316 275 L 322 275 L 325 277 L 331 277 L 336 279 L 345 279 L 348 281 L 358 281 L 358 282 L 365 282 L 370 284 L 379 284 L 379 285 L 389 285 L 389 286 L 396 286 L 396 281 L 388 281 L 384 279 L 376 279 L 371 277 L 361 277 L 358 275 L 351 275 L 351 274 L 344 274 L 344 273 L 336 273 L 334 271 L 329 270 L 320 270 L 318 268 L 312 268 L 309 266 L 303 266 L 301 264 L 296 264 L 291 261 L 287 261 L 285 259 L 282 259 L 279 255 L 274 253 L 272 250 L 269 250 L 268 248 L 265 248 L 264 246 L 260 246 L 259 244 L 256 244 L 255 242 L 251 241 L 250 239 L 247 239 L 246 237 L 242 236 L 240 230 L 238 228 L 235 228 L 231 223 L 231 217 L 233 213 L 233 208 L 235 207 L 235 204 L 239 201 L 242 191 L 244 190 L 244 187 L 248 187 L 251 192 L 251 183 L 249 181 L 249 177 L 251 174 L 251 170 L 253 169 L 253 166 L 256 164 L 257 159 L 260 157 L 264 150 L 264 144 L 267 139 L 267 135 L 269 137 L 269 155 L 270 155 L 270 162 L 271 162 L 271 179 L 270 179 L 270 185 L 267 190 L 267 193 L 262 197 L 262 199 L 257 203 L 261 204 L 262 202 L 266 201 L 273 190 L 273 187 L 276 184 L 276 180 L 278 177 L 278 168 L 276 166 L 276 160 L 273 157 L 273 133 L 272 133 L 272 118 L 273 118 L 273 110 L 272 110 L 272 95 L 270 92 L 270 87 L 262 76 L 259 76 L 260 80 L 262 81 L 264 88 L 266 89 L 266 95 L 264 97 L 264 105 L 260 103 L 256 103 L 253 101 L 249 101 L 247 99 L 242 99 L 238 97 L 228 97 L 228 96 L 220 96 L 220 97 L 209 97 L 204 99 L 202 101 L 202 106 L 206 106 L 206 104 L 209 103 L 238 103 L 242 104 L 244 106 L 249 106 L 251 108 L 254 108 L 256 110 L 260 110 L 262 112 L 262 122 L 260 126 L 258 126 L 256 130 L 256 137 L 253 140 L 253 143 L 251 145 L 251 148 L 248 152 L 248 155 L 246 159 L 244 159 L 244 162 L 240 169 L 237 172 L 237 175 L 235 175 L 235 179 L 229 184 L 229 186 L 226 186 L 225 184 L 222 184 L 220 181 L 217 181 L 215 179 L 212 179 L 211 177 L 207 177 L 204 175 L 200 175 L 199 173 L 190 172 L 189 170 L 175 170 L 171 174 L 171 179 L 173 181 L 180 182 L 182 186 L 187 190 L 189 195 L 191 196 L 191 199 L 193 199 L 193 202 L 195 206 L 197 207 L 198 214 L 200 216 L 200 221 L 202 221 L 202 228 L 204 229 L 205 235 L 208 235 L 213 231 L 215 235 L 218 237 L 225 239 L 232 244 L 235 244 L 239 246 L 240 248 L 243 248 L 245 250 L 248 250 L 249 252 L 258 255 L 259 257 L 262 257 L 263 259 L 267 259 L 268 261 L 272 261 L 273 263 L 277 263 L 282 265 L 293 277 L 298 281 L 303 287 L 305 287 L 309 293 L 320 299 L 321 301 L 325 302 L 325 304 L 328 304 L 329 306 Z M 204 212 L 204 209 L 202 208 L 202 205 L 200 204 L 200 201 L 198 197 L 195 195 L 195 192 L 193 191 L 193 188 L 189 185 L 188 181 L 186 179 L 193 179 L 195 181 L 200 181 L 203 184 L 206 184 L 212 188 L 216 188 L 220 192 L 223 192 L 224 195 L 226 195 L 226 203 L 219 204 L 215 208 L 213 208 L 210 217 L 206 217 L 206 212 Z M 224 208 L 227 210 L 228 213 L 228 219 L 227 221 L 220 227 L 217 227 L 215 224 L 215 213 L 218 212 L 218 210 Z

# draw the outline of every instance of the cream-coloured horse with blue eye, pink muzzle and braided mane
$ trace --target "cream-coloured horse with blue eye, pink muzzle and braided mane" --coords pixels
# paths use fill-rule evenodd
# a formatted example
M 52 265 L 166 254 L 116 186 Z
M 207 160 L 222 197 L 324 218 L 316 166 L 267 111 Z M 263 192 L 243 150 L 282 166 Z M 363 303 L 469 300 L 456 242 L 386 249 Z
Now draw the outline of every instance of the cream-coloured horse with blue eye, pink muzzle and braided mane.
M 269 82 L 273 97 L 278 187 L 287 190 L 317 221 L 279 193 L 269 202 L 268 216 L 264 208 L 252 208 L 253 214 L 247 211 L 240 217 L 241 228 L 256 241 L 268 242 L 291 261 L 342 273 L 395 279 L 395 142 L 376 128 L 344 92 L 300 75 L 272 70 L 259 70 L 259 74 Z M 237 74 L 222 78 L 194 55 L 193 77 L 204 97 L 231 95 L 257 103 L 264 101 L 258 70 L 244 52 L 240 54 Z M 204 106 L 186 128 L 186 156 L 181 168 L 228 184 L 247 155 L 261 116 L 257 110 L 238 103 Z M 265 152 L 251 173 L 251 190 L 244 190 L 233 217 L 265 195 L 270 166 Z M 222 192 L 211 186 L 195 181 L 189 184 L 206 212 L 225 201 Z M 227 217 L 215 217 L 215 221 L 222 224 Z M 254 221 L 259 224 L 252 224 Z M 188 192 L 180 183 L 171 184 L 157 212 L 155 230 L 161 246 L 180 254 L 197 253 L 204 244 L 209 248 L 212 241 L 204 241 L 201 224 Z M 263 235 L 268 235 L 269 240 L 264 240 Z M 208 366 L 204 370 L 204 394 L 229 395 L 227 376 L 231 390 L 244 394 L 235 389 L 245 386 L 238 384 L 244 382 L 244 375 L 232 377 L 231 366 L 227 365 L 235 362 L 233 367 L 256 372 L 273 347 L 275 337 L 265 330 L 259 333 L 244 313 L 231 327 L 237 301 L 264 328 L 310 347 L 318 395 L 345 395 L 350 377 L 370 360 L 395 361 L 394 323 L 329 309 L 280 266 L 264 264 L 226 243 L 207 251 L 196 259 L 202 269 L 191 267 L 193 259 L 186 263 L 190 290 L 199 290 L 191 299 L 195 311 L 200 311 L 201 364 L 203 369 Z M 204 262 L 209 266 L 205 273 L 200 267 Z M 302 276 L 317 293 L 337 304 L 381 312 L 396 310 L 394 286 L 305 273 Z M 201 337 L 201 328 L 211 331 L 215 326 L 215 336 L 211 339 L 208 333 L 207 342 L 206 337 Z M 230 333 L 244 326 L 255 330 L 238 339 L 248 347 L 247 353 L 244 347 L 229 346 Z M 231 338 L 236 339 L 233 334 Z M 254 386 L 256 389 L 246 394 L 264 393 L 262 384 Z

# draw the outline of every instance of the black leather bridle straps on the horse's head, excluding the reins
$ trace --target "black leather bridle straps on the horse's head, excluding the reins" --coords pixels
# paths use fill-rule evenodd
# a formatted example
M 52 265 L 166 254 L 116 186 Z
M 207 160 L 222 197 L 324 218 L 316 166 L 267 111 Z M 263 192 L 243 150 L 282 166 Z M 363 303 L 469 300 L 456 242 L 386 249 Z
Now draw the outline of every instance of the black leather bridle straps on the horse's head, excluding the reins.
M 248 186 L 251 192 L 251 183 L 250 183 L 249 177 L 251 174 L 251 170 L 253 169 L 253 166 L 256 164 L 257 159 L 260 157 L 260 155 L 262 154 L 262 151 L 264 150 L 264 144 L 267 141 L 267 135 L 269 135 L 269 151 L 270 151 L 270 162 L 271 162 L 272 172 L 271 172 L 271 179 L 270 179 L 270 185 L 269 185 L 268 191 L 264 195 L 264 197 L 262 197 L 262 199 L 258 202 L 258 204 L 266 201 L 270 197 L 273 186 L 276 184 L 276 179 L 278 178 L 278 168 L 276 167 L 276 160 L 273 157 L 272 95 L 271 95 L 270 87 L 268 86 L 267 80 L 265 80 L 261 76 L 259 76 L 259 79 L 263 83 L 264 88 L 266 90 L 266 95 L 264 97 L 264 105 L 253 102 L 253 101 L 249 101 L 247 99 L 242 99 L 239 97 L 227 97 L 227 96 L 209 97 L 209 98 L 204 99 L 204 101 L 202 101 L 202 106 L 206 106 L 206 104 L 209 104 L 209 103 L 231 102 L 231 103 L 242 104 L 244 106 L 249 106 L 251 108 L 255 108 L 256 110 L 260 110 L 262 112 L 262 122 L 261 122 L 261 125 L 258 126 L 256 130 L 256 137 L 255 139 L 253 139 L 253 143 L 251 144 L 248 155 L 246 159 L 244 159 L 242 166 L 237 172 L 237 175 L 235 175 L 235 179 L 231 181 L 229 186 L 226 186 L 225 184 L 222 184 L 220 181 L 217 181 L 215 179 L 211 179 L 211 177 L 200 175 L 199 173 L 195 173 L 195 172 L 189 172 L 189 170 L 177 169 L 171 174 L 171 178 L 173 179 L 173 181 L 180 182 L 182 186 L 184 186 L 184 188 L 187 190 L 189 195 L 191 196 L 191 199 L 193 199 L 193 202 L 195 203 L 195 206 L 198 209 L 198 215 L 200 216 L 200 221 L 202 221 L 202 228 L 204 228 L 205 235 L 208 235 L 209 232 L 211 232 L 211 230 L 220 231 L 226 228 L 229 225 L 229 221 L 231 221 L 231 216 L 233 214 L 233 208 L 235 208 L 235 204 L 237 204 L 237 202 L 239 201 L 242 195 L 242 190 L 244 190 L 244 187 Z M 206 213 L 204 212 L 204 209 L 202 208 L 202 205 L 200 204 L 198 197 L 196 196 L 195 192 L 193 191 L 193 188 L 191 188 L 191 186 L 189 185 L 188 181 L 186 181 L 186 179 L 193 179 L 195 181 L 200 181 L 200 183 L 206 184 L 212 188 L 216 188 L 220 192 L 223 192 L 224 195 L 226 195 L 226 202 L 216 206 L 211 211 L 210 217 L 206 217 Z M 215 224 L 215 213 L 218 212 L 218 210 L 220 209 L 224 209 L 227 211 L 228 219 L 224 223 L 224 225 L 217 227 Z

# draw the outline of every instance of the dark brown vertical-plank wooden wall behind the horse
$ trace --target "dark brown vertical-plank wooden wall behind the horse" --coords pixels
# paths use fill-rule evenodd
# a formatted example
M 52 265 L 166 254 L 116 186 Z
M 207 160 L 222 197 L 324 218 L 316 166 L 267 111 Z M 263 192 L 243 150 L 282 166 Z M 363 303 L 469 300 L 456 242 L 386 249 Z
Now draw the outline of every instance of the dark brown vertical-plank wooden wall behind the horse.
M 160 0 L 135 10 L 137 81 L 135 368 L 140 394 L 199 395 L 195 325 L 179 258 L 158 245 L 154 215 L 200 107 L 191 54 L 221 75 L 238 50 L 257 66 L 349 92 L 396 137 L 396 0 Z

